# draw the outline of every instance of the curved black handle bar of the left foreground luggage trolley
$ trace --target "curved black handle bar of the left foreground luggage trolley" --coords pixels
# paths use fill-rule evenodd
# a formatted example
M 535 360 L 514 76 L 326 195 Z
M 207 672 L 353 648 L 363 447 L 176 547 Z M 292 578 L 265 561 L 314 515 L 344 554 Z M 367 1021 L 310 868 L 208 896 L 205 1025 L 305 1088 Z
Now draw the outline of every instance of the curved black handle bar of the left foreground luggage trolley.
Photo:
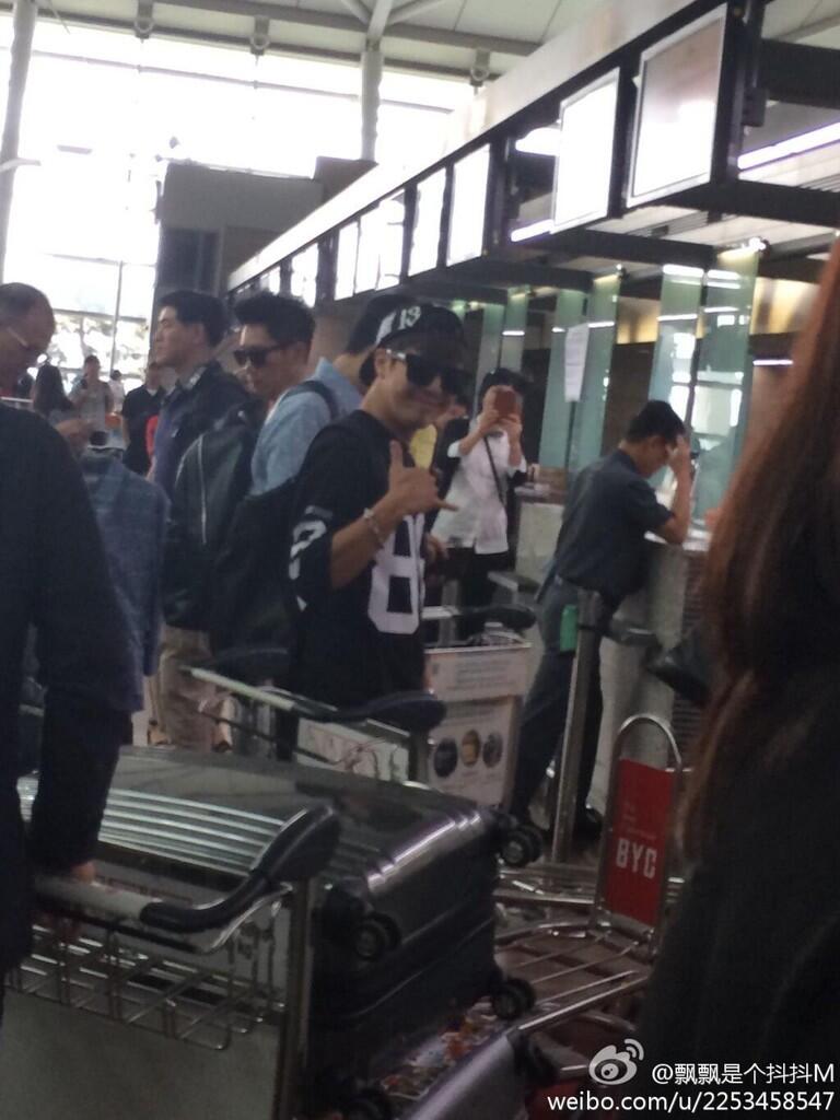
M 235 921 L 284 884 L 314 878 L 330 860 L 338 832 L 338 815 L 328 805 L 301 810 L 283 824 L 256 866 L 230 895 L 204 906 L 149 902 L 138 892 L 77 883 L 64 876 L 39 876 L 36 889 L 43 902 L 62 903 L 73 912 L 93 911 L 112 921 L 141 922 L 167 933 L 204 933 Z

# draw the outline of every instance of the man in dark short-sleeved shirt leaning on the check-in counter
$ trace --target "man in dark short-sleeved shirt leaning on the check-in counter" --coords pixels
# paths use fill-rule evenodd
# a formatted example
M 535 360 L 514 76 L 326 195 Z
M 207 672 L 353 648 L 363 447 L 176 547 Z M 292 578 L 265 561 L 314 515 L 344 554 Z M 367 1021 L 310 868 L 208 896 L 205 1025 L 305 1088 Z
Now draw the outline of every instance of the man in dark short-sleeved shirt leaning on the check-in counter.
M 685 426 L 665 401 L 648 401 L 612 455 L 586 467 L 566 503 L 557 542 L 556 576 L 541 622 L 545 645 L 522 717 L 520 757 L 511 812 L 529 819 L 529 805 L 559 750 L 575 664 L 573 610 L 578 592 L 598 591 L 609 615 L 645 579 L 645 533 L 682 544 L 689 529 L 691 470 Z M 664 466 L 676 476 L 671 508 L 656 501 L 646 479 Z M 571 616 L 571 626 L 566 625 Z M 595 769 L 601 718 L 600 665 L 596 657 L 577 791 L 576 832 L 592 831 L 587 796 Z

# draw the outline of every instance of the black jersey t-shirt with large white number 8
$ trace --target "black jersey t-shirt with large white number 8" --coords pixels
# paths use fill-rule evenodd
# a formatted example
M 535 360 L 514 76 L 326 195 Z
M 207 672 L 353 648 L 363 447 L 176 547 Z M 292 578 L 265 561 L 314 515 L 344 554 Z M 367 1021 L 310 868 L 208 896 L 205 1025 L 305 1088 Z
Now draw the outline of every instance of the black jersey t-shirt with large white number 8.
M 405 517 L 346 587 L 329 585 L 333 535 L 388 492 L 393 439 L 379 420 L 353 412 L 318 435 L 298 476 L 290 576 L 301 616 L 293 688 L 342 707 L 423 682 L 422 516 Z M 411 465 L 408 451 L 404 460 Z

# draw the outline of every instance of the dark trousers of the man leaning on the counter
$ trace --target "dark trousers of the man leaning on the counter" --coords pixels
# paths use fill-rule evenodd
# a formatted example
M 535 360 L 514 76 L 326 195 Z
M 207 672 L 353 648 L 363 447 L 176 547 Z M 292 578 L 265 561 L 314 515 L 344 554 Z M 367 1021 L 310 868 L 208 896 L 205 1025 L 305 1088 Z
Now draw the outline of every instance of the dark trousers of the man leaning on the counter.
M 577 590 L 568 585 L 552 587 L 545 600 L 541 624 L 545 651 L 522 713 L 519 759 L 511 801 L 511 812 L 519 818 L 528 814 L 528 808 L 545 777 L 549 763 L 554 757 L 559 759 L 562 750 L 575 654 L 560 653 L 558 642 L 563 607 L 575 601 L 577 601 Z M 587 700 L 577 792 L 578 816 L 586 810 L 604 710 L 600 692 L 600 655 L 597 652 Z

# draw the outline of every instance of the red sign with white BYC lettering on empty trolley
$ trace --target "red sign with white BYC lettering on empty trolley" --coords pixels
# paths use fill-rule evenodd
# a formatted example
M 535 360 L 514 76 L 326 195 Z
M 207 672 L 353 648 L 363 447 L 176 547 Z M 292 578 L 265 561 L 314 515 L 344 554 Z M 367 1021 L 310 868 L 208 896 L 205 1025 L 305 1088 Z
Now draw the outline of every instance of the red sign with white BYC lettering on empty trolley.
M 674 774 L 618 760 L 604 904 L 613 914 L 653 926 L 666 887 Z

